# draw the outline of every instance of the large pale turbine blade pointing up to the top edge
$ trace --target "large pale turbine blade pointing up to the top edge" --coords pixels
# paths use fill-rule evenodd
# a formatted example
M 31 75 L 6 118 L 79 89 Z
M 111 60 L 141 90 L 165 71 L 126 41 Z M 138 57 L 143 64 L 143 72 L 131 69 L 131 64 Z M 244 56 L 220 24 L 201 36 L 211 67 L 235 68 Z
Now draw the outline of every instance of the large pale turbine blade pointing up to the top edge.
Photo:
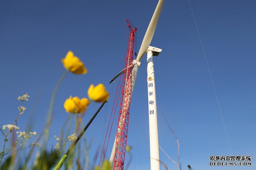
M 164 0 L 159 0 L 159 2 L 157 3 L 157 7 L 154 11 L 154 14 L 151 18 L 151 21 L 148 25 L 148 29 L 145 33 L 145 36 L 144 36 L 143 41 L 142 41 L 141 46 L 140 46 L 140 50 L 139 50 L 139 53 L 138 53 L 138 56 L 137 56 L 137 59 L 136 59 L 138 62 L 140 62 L 143 55 L 147 51 L 148 46 L 150 45 L 150 42 L 151 42 L 151 40 L 154 36 L 154 31 L 157 27 L 157 21 L 158 21 L 158 18 L 160 17 L 160 13 L 161 13 L 162 8 L 163 8 L 163 3 L 164 3 Z

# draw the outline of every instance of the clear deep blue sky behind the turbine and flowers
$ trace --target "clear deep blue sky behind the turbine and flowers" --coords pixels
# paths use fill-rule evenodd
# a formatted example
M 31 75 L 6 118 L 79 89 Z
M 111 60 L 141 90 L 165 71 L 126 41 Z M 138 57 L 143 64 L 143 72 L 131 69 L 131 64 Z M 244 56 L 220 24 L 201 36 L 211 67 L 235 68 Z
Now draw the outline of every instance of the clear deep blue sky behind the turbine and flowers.
M 37 96 L 34 130 L 42 132 L 51 93 L 65 71 L 61 58 L 71 50 L 86 66 L 85 75 L 68 74 L 55 98 L 50 143 L 68 117 L 63 103 L 70 95 L 87 96 L 91 83 L 103 83 L 110 100 L 87 130 L 93 139 L 90 156 L 102 146 L 118 82 L 108 82 L 122 68 L 127 46 L 125 20 L 137 26 L 137 49 L 143 40 L 157 0 L 44 0 L 0 2 L 0 125 L 17 116 L 17 96 L 28 93 L 27 108 L 18 122 L 26 127 Z M 192 0 L 209 68 L 215 83 L 233 155 L 251 155 L 256 168 L 256 3 L 253 0 Z M 212 88 L 188 0 L 167 0 L 151 46 L 163 49 L 154 57 L 157 110 L 165 114 L 180 140 L 182 169 L 233 170 L 209 167 L 210 155 L 230 155 L 221 115 Z M 145 56 L 132 96 L 128 144 L 133 146 L 129 169 L 148 170 L 149 136 Z M 93 103 L 84 116 L 96 111 Z M 177 158 L 177 144 L 158 113 L 160 146 Z M 105 125 L 105 126 L 104 126 Z M 117 122 L 113 128 L 116 130 Z M 113 132 L 114 133 L 114 132 Z M 112 134 L 113 134 L 112 133 Z M 112 140 L 112 141 L 111 141 Z M 2 144 L 3 141 L 0 142 Z M 112 147 L 113 137 L 109 145 Z M 108 154 L 111 150 L 108 149 Z M 175 165 L 160 151 L 169 169 Z M 126 159 L 126 161 L 128 161 Z M 162 169 L 164 167 L 161 167 Z

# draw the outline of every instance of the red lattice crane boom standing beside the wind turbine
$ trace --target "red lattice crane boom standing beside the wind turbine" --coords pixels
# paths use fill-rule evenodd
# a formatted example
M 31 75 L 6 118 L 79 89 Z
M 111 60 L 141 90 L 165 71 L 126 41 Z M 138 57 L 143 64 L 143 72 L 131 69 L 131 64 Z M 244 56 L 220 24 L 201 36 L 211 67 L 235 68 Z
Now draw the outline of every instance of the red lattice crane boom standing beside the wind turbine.
M 126 20 L 128 28 L 130 30 L 129 41 L 126 51 L 125 71 L 122 80 L 122 93 L 121 102 L 119 108 L 119 121 L 116 132 L 116 149 L 113 170 L 123 170 L 125 163 L 125 150 L 128 136 L 128 124 L 129 124 L 129 113 L 130 113 L 130 102 L 131 102 L 131 77 L 132 77 L 132 65 L 133 65 L 133 54 L 134 54 L 134 39 L 137 28 L 131 27 L 131 24 Z

